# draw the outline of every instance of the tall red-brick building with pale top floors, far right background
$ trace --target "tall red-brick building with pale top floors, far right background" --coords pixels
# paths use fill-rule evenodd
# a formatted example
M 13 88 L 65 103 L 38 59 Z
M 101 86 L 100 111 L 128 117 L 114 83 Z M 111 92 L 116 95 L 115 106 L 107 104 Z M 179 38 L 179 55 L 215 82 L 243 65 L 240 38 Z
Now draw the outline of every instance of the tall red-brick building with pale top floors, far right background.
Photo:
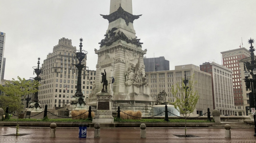
M 241 71 L 243 71 L 243 67 L 241 69 L 240 60 L 250 57 L 250 52 L 246 48 L 238 48 L 228 51 L 221 52 L 223 65 L 233 71 L 232 73 L 232 81 L 233 81 L 233 93 L 234 93 L 234 106 L 235 106 L 235 114 L 236 115 L 246 115 L 246 109 L 244 104 L 244 97 L 246 97 L 246 93 L 244 93 L 243 89 L 245 86 L 242 86 Z

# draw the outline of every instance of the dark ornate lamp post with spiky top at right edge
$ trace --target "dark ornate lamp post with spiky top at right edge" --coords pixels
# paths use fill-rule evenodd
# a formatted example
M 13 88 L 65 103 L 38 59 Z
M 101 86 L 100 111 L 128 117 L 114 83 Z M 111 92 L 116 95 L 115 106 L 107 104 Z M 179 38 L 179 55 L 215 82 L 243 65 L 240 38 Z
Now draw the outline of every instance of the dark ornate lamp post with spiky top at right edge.
M 250 38 L 248 40 L 248 43 L 251 44 L 251 47 L 249 49 L 249 51 L 251 52 L 251 63 L 250 62 L 245 62 L 244 63 L 244 70 L 245 67 L 247 69 L 247 71 L 245 70 L 244 72 L 244 76 L 245 76 L 245 85 L 246 88 L 249 89 L 250 86 L 252 88 L 252 92 L 250 93 L 251 96 L 249 96 L 250 99 L 250 107 L 251 108 L 255 108 L 256 107 L 256 61 L 254 60 L 254 51 L 255 49 L 253 48 L 253 43 L 254 43 L 254 39 Z M 250 72 L 251 70 L 251 72 Z M 252 75 L 252 79 L 248 79 L 248 77 L 250 77 L 250 74 Z M 253 104 L 252 104 L 253 102 Z M 253 115 L 254 118 L 254 136 L 256 136 L 256 120 L 255 120 L 255 114 Z

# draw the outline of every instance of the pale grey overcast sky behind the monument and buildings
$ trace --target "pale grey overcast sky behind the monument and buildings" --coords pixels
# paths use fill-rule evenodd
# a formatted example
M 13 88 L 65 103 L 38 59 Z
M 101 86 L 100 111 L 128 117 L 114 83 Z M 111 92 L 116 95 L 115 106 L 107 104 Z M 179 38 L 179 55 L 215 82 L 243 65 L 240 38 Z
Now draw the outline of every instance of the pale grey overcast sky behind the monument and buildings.
M 136 36 L 147 58 L 164 56 L 176 65 L 216 62 L 222 51 L 249 49 L 256 39 L 255 0 L 133 0 Z M 0 0 L 0 31 L 6 33 L 4 79 L 34 77 L 37 58 L 46 59 L 60 38 L 88 51 L 87 66 L 96 70 L 99 42 L 108 29 L 110 0 Z M 256 47 L 256 44 L 254 44 Z M 41 66 L 41 64 L 40 64 Z

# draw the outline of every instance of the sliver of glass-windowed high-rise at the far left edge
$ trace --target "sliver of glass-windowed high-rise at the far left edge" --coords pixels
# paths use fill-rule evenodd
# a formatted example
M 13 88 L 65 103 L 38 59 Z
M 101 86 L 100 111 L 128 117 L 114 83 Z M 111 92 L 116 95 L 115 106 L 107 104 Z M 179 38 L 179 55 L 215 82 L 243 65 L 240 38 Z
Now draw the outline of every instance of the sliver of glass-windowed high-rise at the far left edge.
M 0 32 L 0 82 L 1 82 L 1 79 L 2 79 L 3 73 L 4 73 L 3 66 L 5 65 L 5 64 L 3 64 L 4 45 L 5 45 L 5 33 Z

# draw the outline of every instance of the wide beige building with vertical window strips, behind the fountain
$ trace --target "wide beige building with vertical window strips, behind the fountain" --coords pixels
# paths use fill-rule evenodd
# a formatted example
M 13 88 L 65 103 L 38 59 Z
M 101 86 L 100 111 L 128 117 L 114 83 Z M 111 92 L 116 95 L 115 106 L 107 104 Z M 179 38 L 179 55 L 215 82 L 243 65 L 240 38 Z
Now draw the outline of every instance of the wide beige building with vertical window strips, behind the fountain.
M 199 99 L 193 114 L 206 113 L 208 108 L 210 108 L 210 111 L 212 112 L 213 98 L 211 74 L 201 71 L 199 66 L 193 64 L 175 66 L 175 70 L 146 72 L 151 95 L 156 97 L 159 92 L 165 90 L 168 95 L 167 101 L 174 102 L 175 97 L 171 93 L 171 86 L 176 83 L 181 83 L 182 79 L 185 78 L 185 72 L 188 79 L 194 75 L 194 80 L 197 81 L 194 90 L 198 91 Z

